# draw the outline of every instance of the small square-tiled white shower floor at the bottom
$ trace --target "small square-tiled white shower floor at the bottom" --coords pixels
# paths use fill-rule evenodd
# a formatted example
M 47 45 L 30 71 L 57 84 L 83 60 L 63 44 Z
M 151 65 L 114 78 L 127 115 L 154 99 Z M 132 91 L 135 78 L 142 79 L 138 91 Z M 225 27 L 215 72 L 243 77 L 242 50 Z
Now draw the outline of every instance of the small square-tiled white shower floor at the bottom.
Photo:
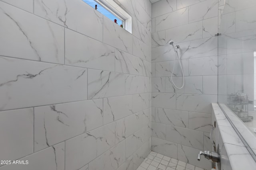
M 204 170 L 180 160 L 151 151 L 137 170 Z

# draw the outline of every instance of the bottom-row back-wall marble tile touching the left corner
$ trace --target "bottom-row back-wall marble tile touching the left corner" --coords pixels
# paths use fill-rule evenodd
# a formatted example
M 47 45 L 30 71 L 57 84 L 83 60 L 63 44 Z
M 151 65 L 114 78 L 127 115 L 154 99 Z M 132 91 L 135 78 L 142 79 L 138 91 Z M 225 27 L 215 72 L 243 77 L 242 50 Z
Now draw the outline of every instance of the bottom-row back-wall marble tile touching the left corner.
M 152 151 L 177 159 L 177 143 L 152 137 Z

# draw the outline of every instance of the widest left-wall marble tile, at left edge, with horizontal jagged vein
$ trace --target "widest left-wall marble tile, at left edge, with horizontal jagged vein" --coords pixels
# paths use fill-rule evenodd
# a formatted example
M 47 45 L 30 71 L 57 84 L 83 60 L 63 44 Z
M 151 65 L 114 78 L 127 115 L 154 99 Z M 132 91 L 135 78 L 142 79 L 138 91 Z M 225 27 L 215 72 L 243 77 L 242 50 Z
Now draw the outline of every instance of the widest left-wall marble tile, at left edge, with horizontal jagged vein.
M 0 57 L 0 72 L 0 110 L 87 99 L 86 68 Z

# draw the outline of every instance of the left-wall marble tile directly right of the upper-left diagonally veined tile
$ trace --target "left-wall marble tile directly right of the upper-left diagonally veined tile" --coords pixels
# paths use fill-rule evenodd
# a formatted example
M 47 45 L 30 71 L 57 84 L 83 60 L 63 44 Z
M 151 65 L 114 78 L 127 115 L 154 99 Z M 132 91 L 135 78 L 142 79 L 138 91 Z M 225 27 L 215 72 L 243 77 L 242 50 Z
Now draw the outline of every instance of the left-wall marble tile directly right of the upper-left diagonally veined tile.
M 65 64 L 114 71 L 115 49 L 100 41 L 65 29 Z

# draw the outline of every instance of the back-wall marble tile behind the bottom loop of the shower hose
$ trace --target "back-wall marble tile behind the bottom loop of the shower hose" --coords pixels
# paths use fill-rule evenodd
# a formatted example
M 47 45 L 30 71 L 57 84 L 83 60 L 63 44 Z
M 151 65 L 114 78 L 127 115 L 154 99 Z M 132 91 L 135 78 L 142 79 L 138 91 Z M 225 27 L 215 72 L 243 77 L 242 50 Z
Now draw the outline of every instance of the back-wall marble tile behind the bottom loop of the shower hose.
M 183 85 L 183 77 L 172 77 L 174 84 L 178 87 Z M 188 93 L 188 94 L 202 94 L 203 93 L 203 83 L 202 76 L 185 76 L 184 77 L 184 87 L 178 89 L 174 86 L 171 81 L 171 77 L 166 77 L 165 79 L 165 92 L 170 93 Z

